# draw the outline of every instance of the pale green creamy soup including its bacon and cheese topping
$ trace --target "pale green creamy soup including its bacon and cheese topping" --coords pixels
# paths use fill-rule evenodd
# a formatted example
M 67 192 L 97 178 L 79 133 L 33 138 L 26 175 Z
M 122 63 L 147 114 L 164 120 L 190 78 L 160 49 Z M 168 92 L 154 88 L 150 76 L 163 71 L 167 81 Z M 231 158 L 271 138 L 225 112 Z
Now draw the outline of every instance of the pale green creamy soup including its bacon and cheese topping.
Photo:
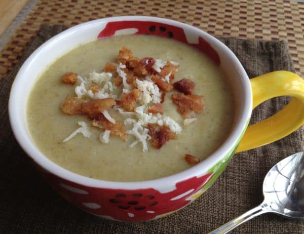
M 27 104 L 36 146 L 91 178 L 144 181 L 204 160 L 231 131 L 233 94 L 198 50 L 157 36 L 81 45 L 37 79 Z

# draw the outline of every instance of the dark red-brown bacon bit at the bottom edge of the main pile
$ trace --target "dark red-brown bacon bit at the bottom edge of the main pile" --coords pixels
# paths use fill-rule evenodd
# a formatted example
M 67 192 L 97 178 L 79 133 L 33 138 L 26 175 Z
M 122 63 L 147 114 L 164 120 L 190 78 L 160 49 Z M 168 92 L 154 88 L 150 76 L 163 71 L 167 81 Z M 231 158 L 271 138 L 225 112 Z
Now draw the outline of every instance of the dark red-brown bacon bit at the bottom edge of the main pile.
M 161 148 L 168 140 L 176 139 L 176 134 L 170 131 L 166 125 L 148 124 L 151 144 L 157 149 Z

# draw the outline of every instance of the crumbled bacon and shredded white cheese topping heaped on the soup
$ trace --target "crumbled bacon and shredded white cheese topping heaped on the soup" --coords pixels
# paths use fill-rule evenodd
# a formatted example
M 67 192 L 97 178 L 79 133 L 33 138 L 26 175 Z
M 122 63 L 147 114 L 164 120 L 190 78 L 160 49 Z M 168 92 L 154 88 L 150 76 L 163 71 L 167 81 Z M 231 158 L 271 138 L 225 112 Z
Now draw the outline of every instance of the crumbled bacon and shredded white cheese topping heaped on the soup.
M 75 90 L 78 97 L 87 96 L 87 98 L 91 97 L 95 100 L 88 101 L 88 99 L 76 97 L 67 98 L 61 105 L 62 111 L 67 114 L 86 114 L 93 126 L 107 131 L 107 140 L 108 134 L 119 136 L 124 141 L 128 139 L 129 135 L 133 135 L 136 140 L 130 144 L 130 147 L 141 142 L 143 150 L 147 150 L 146 140 L 149 137 L 151 137 L 151 144 L 159 149 L 168 140 L 176 139 L 176 134 L 182 130 L 170 116 L 162 115 L 164 110 L 161 103 L 165 100 L 166 92 L 175 88 L 186 94 L 177 93 L 172 95 L 172 100 L 177 105 L 177 109 L 183 118 L 190 120 L 190 118 L 195 117 L 195 113 L 203 111 L 203 97 L 192 94 L 194 90 L 192 81 L 182 79 L 171 84 L 178 70 L 178 63 L 166 62 L 162 59 L 155 60 L 152 57 L 139 59 L 125 47 L 122 47 L 119 51 L 116 60 L 119 64 L 105 64 L 103 71 L 110 72 L 110 74 L 107 74 L 107 79 L 100 79 L 98 85 L 94 81 L 92 83 L 90 80 L 81 79 L 82 77 L 78 77 L 77 73 L 65 73 L 62 76 L 62 81 L 66 84 L 74 84 L 77 79 L 82 81 L 81 85 L 77 87 L 80 94 Z M 96 77 L 99 77 L 99 75 L 97 73 Z M 92 96 L 92 93 L 88 92 L 86 88 L 86 86 L 89 86 L 88 82 L 91 82 L 89 89 L 96 95 Z M 117 93 L 109 93 L 114 92 L 113 85 L 116 87 L 123 86 L 121 97 Z M 121 98 L 121 100 L 104 97 Z M 139 102 L 137 103 L 137 101 Z M 151 102 L 153 102 L 152 105 Z M 138 106 L 139 103 L 142 105 Z M 135 119 L 131 117 L 125 119 L 124 124 L 132 127 L 128 131 L 126 131 L 124 124 L 112 118 L 107 111 L 114 105 L 120 105 L 124 109 L 117 108 L 123 116 L 124 114 L 135 116 Z M 190 154 L 185 155 L 185 160 L 191 164 L 199 162 L 198 158 Z

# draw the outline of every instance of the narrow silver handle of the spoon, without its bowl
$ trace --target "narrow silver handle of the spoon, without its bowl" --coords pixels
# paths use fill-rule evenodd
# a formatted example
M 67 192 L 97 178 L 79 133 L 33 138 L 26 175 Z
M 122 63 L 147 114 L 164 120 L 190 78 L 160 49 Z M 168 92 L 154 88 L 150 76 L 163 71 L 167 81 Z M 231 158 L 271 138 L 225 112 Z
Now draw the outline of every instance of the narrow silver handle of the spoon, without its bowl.
M 241 225 L 242 223 L 260 215 L 263 213 L 269 212 L 269 205 L 262 203 L 261 205 L 247 211 L 246 213 L 236 217 L 235 219 L 223 224 L 222 226 L 216 228 L 215 230 L 209 232 L 209 234 L 223 234 L 223 233 L 228 233 L 235 227 Z

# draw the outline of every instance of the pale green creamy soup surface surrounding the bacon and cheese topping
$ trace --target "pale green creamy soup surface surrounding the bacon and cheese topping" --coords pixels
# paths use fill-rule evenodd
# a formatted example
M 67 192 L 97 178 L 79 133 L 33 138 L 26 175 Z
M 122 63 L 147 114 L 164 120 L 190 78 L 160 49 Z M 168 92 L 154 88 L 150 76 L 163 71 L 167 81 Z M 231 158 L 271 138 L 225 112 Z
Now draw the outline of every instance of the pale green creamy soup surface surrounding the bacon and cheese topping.
M 90 72 L 101 73 L 106 62 L 115 62 L 122 46 L 131 49 L 138 58 L 153 57 L 179 63 L 173 82 L 183 77 L 195 84 L 194 94 L 203 95 L 204 110 L 196 114 L 196 121 L 183 124 L 168 92 L 162 103 L 164 114 L 180 125 L 177 138 L 169 140 L 160 149 L 147 141 L 129 145 L 136 140 L 130 136 L 123 141 L 110 136 L 108 143 L 99 140 L 101 130 L 91 126 L 86 115 L 63 113 L 60 106 L 68 97 L 75 97 L 75 85 L 66 85 L 61 76 L 67 71 L 88 77 Z M 119 97 L 118 97 L 119 98 Z M 118 111 L 109 113 L 124 121 Z M 27 106 L 27 124 L 36 146 L 57 165 L 91 178 L 109 181 L 143 181 L 169 176 L 193 165 L 184 159 L 191 154 L 204 160 L 229 135 L 234 118 L 233 94 L 223 71 L 206 55 L 185 44 L 148 35 L 128 35 L 105 38 L 81 45 L 52 63 L 37 79 Z M 91 136 L 77 134 L 63 142 L 85 122 Z M 127 128 L 127 127 L 126 127 Z

